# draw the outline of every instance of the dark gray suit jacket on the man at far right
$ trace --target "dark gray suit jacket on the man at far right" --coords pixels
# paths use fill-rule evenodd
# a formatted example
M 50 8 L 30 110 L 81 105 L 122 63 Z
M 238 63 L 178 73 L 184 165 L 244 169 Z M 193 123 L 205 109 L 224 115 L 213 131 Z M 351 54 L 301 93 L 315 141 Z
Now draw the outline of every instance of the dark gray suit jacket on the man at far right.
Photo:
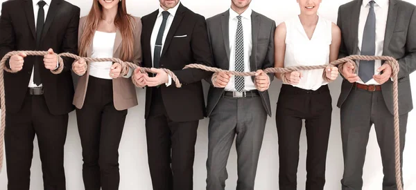
M 356 55 L 358 49 L 358 17 L 363 0 L 354 0 L 340 6 L 338 22 L 342 34 L 339 57 Z M 383 44 L 383 55 L 395 57 L 399 61 L 399 115 L 413 109 L 410 91 L 410 73 L 416 69 L 416 8 L 406 1 L 390 0 L 387 26 Z M 347 99 L 353 87 L 343 79 L 338 107 Z M 385 104 L 393 114 L 393 82 L 388 80 L 381 85 Z

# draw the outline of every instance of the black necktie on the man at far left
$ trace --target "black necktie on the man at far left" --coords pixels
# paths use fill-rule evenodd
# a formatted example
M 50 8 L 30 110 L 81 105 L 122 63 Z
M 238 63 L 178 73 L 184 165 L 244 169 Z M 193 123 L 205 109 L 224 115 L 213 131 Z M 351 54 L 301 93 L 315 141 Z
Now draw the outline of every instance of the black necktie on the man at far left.
M 42 37 L 42 30 L 44 26 L 45 21 L 45 11 L 43 7 L 46 5 L 45 1 L 39 1 L 37 3 L 39 6 L 39 12 L 37 12 L 37 21 L 36 21 L 36 46 L 37 48 L 40 47 L 40 38 Z M 39 59 L 42 60 L 42 59 Z M 35 61 L 35 67 L 33 68 L 33 83 L 35 83 L 37 86 L 41 84 L 40 82 L 40 61 Z

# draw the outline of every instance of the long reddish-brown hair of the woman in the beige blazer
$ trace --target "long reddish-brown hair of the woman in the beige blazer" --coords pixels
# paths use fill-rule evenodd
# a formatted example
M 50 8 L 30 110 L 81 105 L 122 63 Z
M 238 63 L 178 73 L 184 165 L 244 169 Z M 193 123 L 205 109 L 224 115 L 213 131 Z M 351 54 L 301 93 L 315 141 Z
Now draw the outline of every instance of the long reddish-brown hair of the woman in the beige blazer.
M 119 1 L 119 0 L 114 0 Z M 94 0 L 92 3 L 92 8 L 89 11 L 87 20 L 85 21 L 84 32 L 81 36 L 80 44 L 80 56 L 87 56 L 87 48 L 92 44 L 92 38 L 94 37 L 94 32 L 97 30 L 98 23 L 103 18 L 103 6 L 97 1 Z M 121 37 L 123 37 L 121 57 L 123 61 L 130 61 L 133 57 L 133 46 L 134 46 L 134 36 L 133 36 L 133 17 L 128 15 L 127 9 L 125 8 L 125 0 L 119 1 L 119 8 L 117 10 L 116 18 L 114 19 L 114 25 L 121 32 Z

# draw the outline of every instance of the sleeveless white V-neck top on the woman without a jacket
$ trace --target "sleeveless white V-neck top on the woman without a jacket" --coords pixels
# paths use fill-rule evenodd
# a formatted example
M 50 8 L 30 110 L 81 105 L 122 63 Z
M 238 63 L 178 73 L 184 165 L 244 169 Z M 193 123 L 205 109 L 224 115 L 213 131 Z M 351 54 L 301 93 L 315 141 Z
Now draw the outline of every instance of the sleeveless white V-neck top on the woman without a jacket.
M 288 66 L 317 66 L 329 63 L 329 45 L 332 41 L 332 22 L 318 17 L 313 36 L 308 35 L 299 17 L 285 21 L 286 24 L 286 53 L 284 67 Z M 323 69 L 302 70 L 299 84 L 292 85 L 306 90 L 317 90 L 327 84 L 322 79 Z

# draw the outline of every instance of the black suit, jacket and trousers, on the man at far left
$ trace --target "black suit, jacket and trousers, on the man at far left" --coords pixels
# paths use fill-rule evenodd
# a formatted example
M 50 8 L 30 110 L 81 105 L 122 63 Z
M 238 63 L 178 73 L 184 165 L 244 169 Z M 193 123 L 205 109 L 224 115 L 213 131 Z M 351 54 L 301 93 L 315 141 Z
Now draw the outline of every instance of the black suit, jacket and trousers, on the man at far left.
M 47 17 L 46 17 L 47 16 Z M 37 44 L 33 1 L 11 0 L 2 5 L 0 57 L 12 50 L 48 50 L 76 54 L 80 9 L 62 0 L 52 0 Z M 8 189 L 29 189 L 33 139 L 37 135 L 44 173 L 44 189 L 65 189 L 64 143 L 68 113 L 73 111 L 71 64 L 64 59 L 62 73 L 44 67 L 43 57 L 26 57 L 17 73 L 4 73 L 6 93 L 6 161 Z M 28 93 L 32 68 L 40 64 L 43 95 Z M 8 65 L 8 63 L 6 64 Z

